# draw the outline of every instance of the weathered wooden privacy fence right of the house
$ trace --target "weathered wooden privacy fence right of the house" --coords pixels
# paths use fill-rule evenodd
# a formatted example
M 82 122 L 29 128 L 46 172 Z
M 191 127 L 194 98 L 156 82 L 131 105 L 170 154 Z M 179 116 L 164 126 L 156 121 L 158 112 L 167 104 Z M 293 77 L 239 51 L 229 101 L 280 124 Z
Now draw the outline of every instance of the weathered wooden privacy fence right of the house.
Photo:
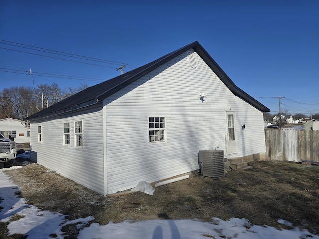
M 319 162 L 319 130 L 265 129 L 266 158 Z

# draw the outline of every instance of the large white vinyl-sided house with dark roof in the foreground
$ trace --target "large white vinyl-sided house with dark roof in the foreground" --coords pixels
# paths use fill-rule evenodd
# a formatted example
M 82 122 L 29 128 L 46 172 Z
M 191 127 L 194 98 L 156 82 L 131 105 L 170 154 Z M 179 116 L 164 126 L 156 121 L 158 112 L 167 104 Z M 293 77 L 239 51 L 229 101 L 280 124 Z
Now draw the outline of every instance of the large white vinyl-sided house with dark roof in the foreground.
M 199 150 L 265 159 L 269 111 L 194 42 L 28 117 L 31 158 L 112 194 L 199 170 Z

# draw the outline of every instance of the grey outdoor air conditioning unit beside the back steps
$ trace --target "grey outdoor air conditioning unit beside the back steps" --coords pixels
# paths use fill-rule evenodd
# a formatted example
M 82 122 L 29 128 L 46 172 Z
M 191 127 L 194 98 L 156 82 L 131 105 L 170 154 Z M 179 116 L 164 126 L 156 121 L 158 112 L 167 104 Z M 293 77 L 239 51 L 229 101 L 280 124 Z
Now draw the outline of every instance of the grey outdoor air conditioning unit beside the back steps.
M 224 151 L 199 151 L 200 171 L 203 176 L 221 178 L 225 176 Z

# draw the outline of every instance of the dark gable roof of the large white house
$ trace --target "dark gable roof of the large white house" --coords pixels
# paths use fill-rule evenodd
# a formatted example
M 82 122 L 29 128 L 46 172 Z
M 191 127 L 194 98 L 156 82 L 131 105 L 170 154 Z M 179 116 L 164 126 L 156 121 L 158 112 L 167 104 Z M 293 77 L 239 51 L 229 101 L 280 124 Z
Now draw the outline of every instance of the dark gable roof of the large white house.
M 206 64 L 215 72 L 215 74 L 235 96 L 240 97 L 262 112 L 270 112 L 270 110 L 263 104 L 255 100 L 243 90 L 239 89 L 234 84 L 234 82 L 226 75 L 226 73 L 218 66 L 213 58 L 206 52 L 206 50 L 199 44 L 199 42 L 195 41 L 144 66 L 136 68 L 123 75 L 114 77 L 97 85 L 88 87 L 83 91 L 80 91 L 40 112 L 27 117 L 26 119 L 34 119 L 37 117 L 47 117 L 62 114 L 101 102 L 103 101 L 103 99 L 121 90 L 135 80 L 141 78 L 145 74 L 151 72 L 160 65 L 168 62 L 169 60 L 177 57 L 178 55 L 182 54 L 185 51 L 188 51 L 191 48 L 193 48 L 197 52 L 197 54 L 206 62 Z

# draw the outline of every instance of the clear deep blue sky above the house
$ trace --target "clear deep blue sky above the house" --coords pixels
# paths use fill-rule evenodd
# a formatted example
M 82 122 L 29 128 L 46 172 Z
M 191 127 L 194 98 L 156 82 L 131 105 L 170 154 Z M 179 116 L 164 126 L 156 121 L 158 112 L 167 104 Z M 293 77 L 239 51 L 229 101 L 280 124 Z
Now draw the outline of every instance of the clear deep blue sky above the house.
M 275 97 L 285 97 L 282 111 L 317 113 L 318 12 L 318 0 L 0 0 L 0 90 L 33 87 L 33 80 L 91 86 L 119 75 L 121 63 L 127 72 L 199 41 L 271 113 L 279 111 Z M 40 48 L 113 64 L 34 50 L 47 51 Z M 33 77 L 25 74 L 30 68 Z

